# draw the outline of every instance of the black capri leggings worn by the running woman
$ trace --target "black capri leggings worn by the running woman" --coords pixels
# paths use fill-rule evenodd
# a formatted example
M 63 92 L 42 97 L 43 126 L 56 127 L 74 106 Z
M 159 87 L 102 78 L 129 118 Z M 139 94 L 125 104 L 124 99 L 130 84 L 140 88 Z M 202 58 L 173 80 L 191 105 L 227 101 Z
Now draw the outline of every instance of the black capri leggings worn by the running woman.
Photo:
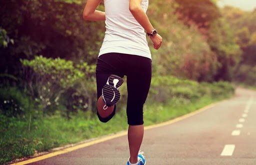
M 96 63 L 97 98 L 101 95 L 102 87 L 105 85 L 110 74 L 120 77 L 127 76 L 127 107 L 126 114 L 129 125 L 143 124 L 143 104 L 146 100 L 151 82 L 150 58 L 123 54 L 105 53 L 98 57 Z M 107 118 L 98 118 L 102 122 L 107 122 L 115 113 L 115 107 Z

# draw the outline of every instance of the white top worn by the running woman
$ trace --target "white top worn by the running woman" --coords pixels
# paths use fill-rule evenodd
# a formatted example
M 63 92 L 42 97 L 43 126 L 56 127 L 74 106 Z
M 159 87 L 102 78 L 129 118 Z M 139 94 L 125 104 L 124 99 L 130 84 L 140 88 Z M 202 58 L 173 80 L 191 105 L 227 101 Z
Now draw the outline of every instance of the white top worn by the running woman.
M 104 6 L 106 31 L 99 55 L 118 52 L 151 59 L 144 28 L 130 13 L 129 0 L 104 0 Z M 148 0 L 142 0 L 141 7 L 146 12 Z

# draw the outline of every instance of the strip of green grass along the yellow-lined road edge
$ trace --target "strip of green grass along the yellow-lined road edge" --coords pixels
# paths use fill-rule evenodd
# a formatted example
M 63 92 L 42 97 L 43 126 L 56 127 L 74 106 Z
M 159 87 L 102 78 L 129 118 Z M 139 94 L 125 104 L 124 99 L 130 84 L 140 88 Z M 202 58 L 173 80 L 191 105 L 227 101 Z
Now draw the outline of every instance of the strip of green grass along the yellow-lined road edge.
M 194 101 L 173 98 L 165 104 L 146 103 L 144 105 L 144 125 L 175 118 L 222 98 L 201 97 Z M 0 135 L 0 163 L 22 156 L 29 156 L 34 152 L 45 151 L 64 144 L 127 129 L 124 108 L 117 111 L 115 116 L 107 123 L 100 122 L 91 113 L 78 112 L 70 120 L 61 117 L 59 114 L 44 118 L 33 118 L 30 131 L 28 131 L 28 119 L 17 120 L 1 115 L 1 130 L 5 127 L 5 132 Z

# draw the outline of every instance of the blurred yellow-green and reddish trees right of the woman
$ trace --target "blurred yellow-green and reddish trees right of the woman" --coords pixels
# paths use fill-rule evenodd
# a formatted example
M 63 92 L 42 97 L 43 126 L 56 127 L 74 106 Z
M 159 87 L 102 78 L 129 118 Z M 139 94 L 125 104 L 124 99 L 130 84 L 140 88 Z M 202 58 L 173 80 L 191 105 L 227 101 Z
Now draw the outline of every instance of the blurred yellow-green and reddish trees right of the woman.
M 241 51 L 214 1 L 155 1 L 147 13 L 157 20 L 153 23 L 164 38 L 157 53 L 151 49 L 154 74 L 198 81 L 232 79 Z

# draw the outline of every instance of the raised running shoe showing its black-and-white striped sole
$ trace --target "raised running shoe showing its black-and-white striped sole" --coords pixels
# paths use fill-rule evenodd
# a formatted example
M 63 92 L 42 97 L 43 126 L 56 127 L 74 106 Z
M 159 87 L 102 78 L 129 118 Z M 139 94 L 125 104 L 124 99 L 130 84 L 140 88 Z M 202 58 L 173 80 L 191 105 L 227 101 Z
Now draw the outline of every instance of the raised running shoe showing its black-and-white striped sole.
M 123 83 L 123 79 L 117 75 L 111 74 L 106 84 L 102 88 L 102 98 L 106 106 L 112 106 L 120 98 L 119 87 Z

